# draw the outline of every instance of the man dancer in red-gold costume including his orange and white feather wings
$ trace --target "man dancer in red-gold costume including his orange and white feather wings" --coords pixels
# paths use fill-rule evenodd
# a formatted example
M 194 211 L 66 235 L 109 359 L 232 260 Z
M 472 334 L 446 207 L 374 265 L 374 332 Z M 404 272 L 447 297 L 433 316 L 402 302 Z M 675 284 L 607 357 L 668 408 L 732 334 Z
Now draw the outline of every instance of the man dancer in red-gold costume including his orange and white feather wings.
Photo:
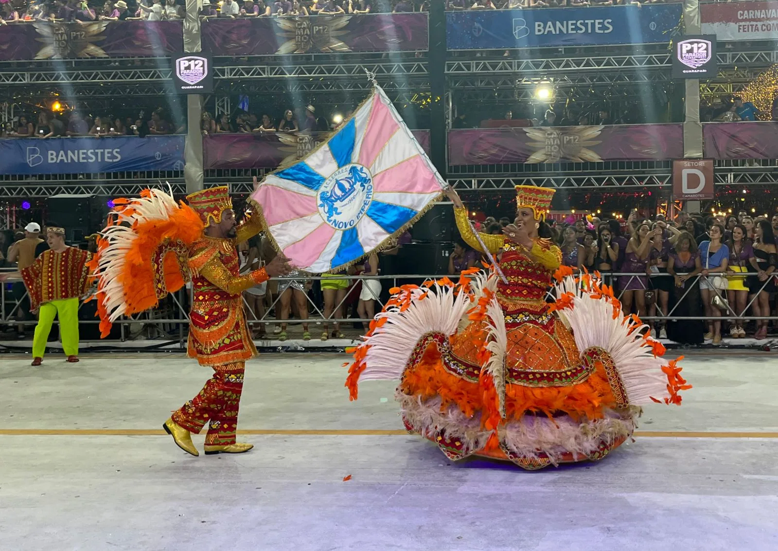
M 259 209 L 238 225 L 226 186 L 187 199 L 188 205 L 178 204 L 152 189 L 140 198 L 114 200 L 115 216 L 98 240 L 93 262 L 100 328 L 107 335 L 117 318 L 155 307 L 191 281 L 188 355 L 214 374 L 163 427 L 182 450 L 198 455 L 191 433 L 209 423 L 205 454 L 242 453 L 253 446 L 235 441 L 238 406 L 245 362 L 257 349 L 241 293 L 291 268 L 279 254 L 265 268 L 240 275 L 236 246 L 262 230 Z

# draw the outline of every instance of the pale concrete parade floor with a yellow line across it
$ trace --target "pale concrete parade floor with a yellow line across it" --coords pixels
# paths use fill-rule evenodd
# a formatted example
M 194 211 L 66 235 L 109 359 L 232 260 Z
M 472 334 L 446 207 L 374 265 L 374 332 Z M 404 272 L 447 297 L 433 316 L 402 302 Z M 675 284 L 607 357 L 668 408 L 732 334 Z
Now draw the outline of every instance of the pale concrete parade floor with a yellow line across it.
M 0 551 L 778 549 L 778 356 L 689 356 L 696 388 L 647 407 L 654 436 L 541 472 L 376 433 L 402 428 L 394 383 L 349 402 L 346 360 L 249 363 L 256 447 L 195 458 L 156 434 L 209 377 L 193 361 L 0 356 Z

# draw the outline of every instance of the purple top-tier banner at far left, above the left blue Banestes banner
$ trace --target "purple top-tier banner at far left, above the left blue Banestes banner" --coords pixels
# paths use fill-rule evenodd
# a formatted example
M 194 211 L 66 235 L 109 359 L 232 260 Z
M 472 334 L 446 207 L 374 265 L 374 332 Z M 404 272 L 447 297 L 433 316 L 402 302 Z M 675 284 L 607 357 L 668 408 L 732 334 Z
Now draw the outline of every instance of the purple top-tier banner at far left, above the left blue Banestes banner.
M 161 58 L 183 49 L 180 21 L 18 23 L 0 31 L 0 61 Z

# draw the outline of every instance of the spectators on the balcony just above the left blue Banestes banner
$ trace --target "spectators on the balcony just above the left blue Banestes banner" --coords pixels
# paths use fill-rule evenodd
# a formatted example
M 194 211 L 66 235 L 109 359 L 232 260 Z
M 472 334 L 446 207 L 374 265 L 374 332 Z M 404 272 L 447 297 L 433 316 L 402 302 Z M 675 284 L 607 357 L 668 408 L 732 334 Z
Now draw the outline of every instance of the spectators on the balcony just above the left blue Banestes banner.
M 37 114 L 19 114 L 0 129 L 0 138 L 61 138 L 108 137 L 184 134 L 183 121 L 172 121 L 162 107 L 147 117 L 143 111 L 137 117 L 118 117 L 113 114 L 91 116 L 75 109 L 64 114 L 39 111 Z

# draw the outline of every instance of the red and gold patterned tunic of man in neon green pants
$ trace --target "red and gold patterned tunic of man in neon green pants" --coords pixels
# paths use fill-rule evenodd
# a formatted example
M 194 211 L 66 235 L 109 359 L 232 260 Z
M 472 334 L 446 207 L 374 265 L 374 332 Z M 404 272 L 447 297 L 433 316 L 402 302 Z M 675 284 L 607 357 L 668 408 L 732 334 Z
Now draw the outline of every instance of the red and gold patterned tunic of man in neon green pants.
M 76 247 L 65 251 L 44 251 L 32 265 L 20 273 L 27 293 L 30 293 L 30 311 L 37 312 L 41 304 L 86 295 L 91 279 L 86 263 L 91 254 Z

